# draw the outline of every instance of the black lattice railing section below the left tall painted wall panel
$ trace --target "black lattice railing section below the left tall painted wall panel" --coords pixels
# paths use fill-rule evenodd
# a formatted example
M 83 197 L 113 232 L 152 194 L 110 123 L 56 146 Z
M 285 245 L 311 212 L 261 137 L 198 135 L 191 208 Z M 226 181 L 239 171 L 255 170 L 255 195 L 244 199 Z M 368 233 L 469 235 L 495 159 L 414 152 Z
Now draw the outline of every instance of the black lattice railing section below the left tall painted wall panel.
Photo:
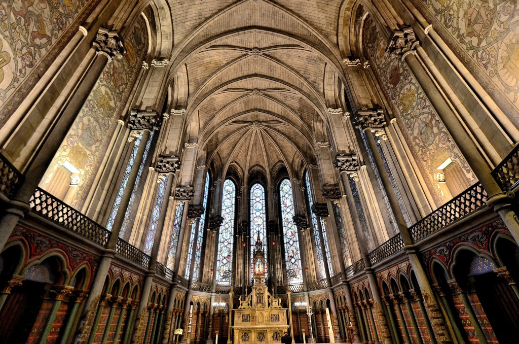
M 101 246 L 106 246 L 110 231 L 79 213 L 76 209 L 54 198 L 50 193 L 37 188 L 29 205 L 34 213 L 49 218 Z

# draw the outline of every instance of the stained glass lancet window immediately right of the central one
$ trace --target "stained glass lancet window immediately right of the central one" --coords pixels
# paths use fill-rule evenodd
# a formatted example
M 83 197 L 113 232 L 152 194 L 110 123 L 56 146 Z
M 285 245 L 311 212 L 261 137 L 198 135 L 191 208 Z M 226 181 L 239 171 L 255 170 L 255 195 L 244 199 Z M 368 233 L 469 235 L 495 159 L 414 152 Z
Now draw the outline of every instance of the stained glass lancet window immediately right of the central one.
M 294 198 L 292 184 L 284 179 L 279 186 L 279 201 L 281 202 L 281 217 L 283 222 L 283 237 L 285 243 L 286 276 L 289 284 L 302 284 L 301 255 L 299 255 L 299 239 L 294 224 Z

